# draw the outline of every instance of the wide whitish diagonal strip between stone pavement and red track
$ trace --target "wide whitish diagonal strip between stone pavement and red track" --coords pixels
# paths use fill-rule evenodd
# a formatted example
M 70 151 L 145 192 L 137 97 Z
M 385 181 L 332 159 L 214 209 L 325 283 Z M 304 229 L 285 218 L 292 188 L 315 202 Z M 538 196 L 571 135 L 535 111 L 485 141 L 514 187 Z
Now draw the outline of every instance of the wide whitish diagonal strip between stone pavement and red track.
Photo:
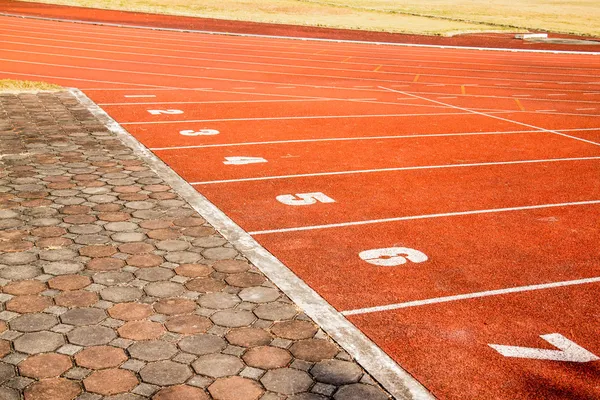
M 333 340 L 354 357 L 392 396 L 405 400 L 435 399 L 427 389 L 403 370 L 342 314 L 312 290 L 303 280 L 298 278 L 281 261 L 258 244 L 214 204 L 152 154 L 83 92 L 78 89 L 70 89 L 69 91 L 125 145 L 144 158 L 154 172 L 168 182 L 194 210 L 200 213 L 225 239 L 231 242 L 267 278 L 302 308 L 306 315 L 312 318 Z

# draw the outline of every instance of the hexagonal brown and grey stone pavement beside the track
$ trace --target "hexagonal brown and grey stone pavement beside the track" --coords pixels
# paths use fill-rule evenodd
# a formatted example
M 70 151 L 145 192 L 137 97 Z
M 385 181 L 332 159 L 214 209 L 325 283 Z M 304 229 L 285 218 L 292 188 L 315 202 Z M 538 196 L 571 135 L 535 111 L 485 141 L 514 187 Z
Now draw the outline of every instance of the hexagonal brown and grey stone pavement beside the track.
M 68 92 L 0 94 L 0 399 L 387 399 Z

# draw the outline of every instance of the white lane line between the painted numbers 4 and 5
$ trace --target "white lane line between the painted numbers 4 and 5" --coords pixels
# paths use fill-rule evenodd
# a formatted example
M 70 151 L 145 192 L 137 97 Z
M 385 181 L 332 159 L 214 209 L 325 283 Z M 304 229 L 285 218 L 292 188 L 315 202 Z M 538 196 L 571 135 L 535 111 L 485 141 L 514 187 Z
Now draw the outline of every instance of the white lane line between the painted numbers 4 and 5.
M 542 159 L 542 160 L 494 161 L 494 162 L 469 163 L 469 164 L 423 165 L 423 166 L 412 166 L 412 167 L 377 168 L 377 169 L 357 169 L 357 170 L 350 170 L 350 171 L 315 172 L 312 174 L 272 175 L 272 176 L 260 176 L 260 177 L 254 177 L 254 178 L 222 179 L 222 180 L 216 180 L 216 181 L 190 182 L 190 184 L 191 185 L 214 185 L 214 184 L 219 184 L 219 183 L 270 181 L 270 180 L 275 180 L 275 179 L 307 178 L 307 177 L 313 177 L 313 176 L 369 174 L 369 173 L 375 173 L 375 172 L 417 171 L 417 170 L 422 170 L 422 169 L 470 168 L 470 167 L 488 167 L 488 166 L 494 166 L 494 165 L 540 164 L 540 163 L 551 163 L 551 162 L 590 161 L 590 160 L 600 160 L 600 156 L 598 156 L 598 157 L 575 157 L 575 158 L 548 158 L 548 159 Z

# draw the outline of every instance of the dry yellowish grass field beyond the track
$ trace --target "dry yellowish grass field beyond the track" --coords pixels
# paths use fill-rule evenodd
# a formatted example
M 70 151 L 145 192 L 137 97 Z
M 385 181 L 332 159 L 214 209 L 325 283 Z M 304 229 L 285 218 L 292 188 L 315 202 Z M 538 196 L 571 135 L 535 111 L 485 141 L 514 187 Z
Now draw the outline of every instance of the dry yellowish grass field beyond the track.
M 600 36 L 598 0 L 36 0 L 208 18 L 429 35 L 548 30 Z

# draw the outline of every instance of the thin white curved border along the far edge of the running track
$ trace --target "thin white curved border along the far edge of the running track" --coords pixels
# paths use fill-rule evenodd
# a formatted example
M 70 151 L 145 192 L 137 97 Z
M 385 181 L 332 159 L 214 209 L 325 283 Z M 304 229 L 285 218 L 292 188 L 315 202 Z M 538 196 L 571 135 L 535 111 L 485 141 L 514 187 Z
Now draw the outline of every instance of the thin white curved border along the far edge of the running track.
M 115 28 L 132 28 L 132 29 L 146 29 L 153 31 L 166 31 L 166 32 L 182 32 L 182 33 L 201 33 L 207 35 L 223 35 L 223 36 L 241 36 L 241 37 L 255 37 L 255 38 L 266 38 L 266 39 L 289 39 L 289 40 L 302 40 L 302 41 L 314 41 L 314 42 L 329 42 L 329 43 L 353 43 L 353 44 L 373 44 L 380 46 L 399 46 L 399 47 L 422 47 L 422 48 L 435 48 L 435 49 L 458 49 L 458 50 L 480 50 L 480 51 L 504 51 L 511 53 L 542 53 L 542 54 L 577 54 L 577 55 L 592 55 L 600 56 L 600 51 L 576 51 L 576 50 L 536 50 L 536 49 L 511 49 L 511 48 L 500 48 L 500 47 L 473 47 L 473 46 L 449 46 L 449 45 L 436 45 L 436 44 L 417 44 L 417 43 L 394 43 L 394 42 L 373 42 L 368 40 L 348 40 L 348 39 L 325 39 L 325 38 L 311 38 L 301 36 L 279 36 L 279 35 L 260 35 L 256 33 L 235 33 L 235 32 L 219 32 L 219 31 L 206 31 L 197 29 L 178 29 L 178 28 L 165 28 L 157 26 L 146 26 L 146 25 L 129 25 L 129 24 L 115 24 L 111 22 L 101 21 L 84 21 L 78 19 L 68 18 L 51 18 L 41 17 L 36 15 L 22 15 L 22 14 L 11 14 L 0 12 L 0 16 L 3 17 L 14 17 L 14 18 L 26 18 L 26 19 L 37 19 L 42 21 L 54 21 L 54 22 L 71 22 L 75 24 L 85 25 L 99 25 L 99 26 L 110 26 Z

